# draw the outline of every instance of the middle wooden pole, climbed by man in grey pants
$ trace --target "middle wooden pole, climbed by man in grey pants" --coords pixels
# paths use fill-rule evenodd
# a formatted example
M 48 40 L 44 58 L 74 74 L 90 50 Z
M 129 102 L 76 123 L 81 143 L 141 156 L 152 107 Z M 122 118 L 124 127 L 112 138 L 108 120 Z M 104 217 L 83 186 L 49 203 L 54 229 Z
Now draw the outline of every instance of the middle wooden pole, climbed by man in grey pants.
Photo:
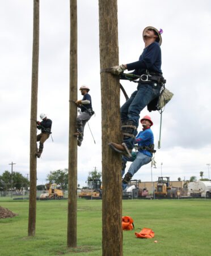
M 70 0 L 70 109 L 69 109 L 69 165 L 68 165 L 68 216 L 67 246 L 77 246 L 77 0 Z

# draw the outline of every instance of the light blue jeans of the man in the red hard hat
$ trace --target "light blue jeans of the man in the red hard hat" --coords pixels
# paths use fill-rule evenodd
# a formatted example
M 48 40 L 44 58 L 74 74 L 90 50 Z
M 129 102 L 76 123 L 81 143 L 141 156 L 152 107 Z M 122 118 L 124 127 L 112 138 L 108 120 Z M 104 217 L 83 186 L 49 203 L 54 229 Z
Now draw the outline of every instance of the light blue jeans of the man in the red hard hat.
M 132 174 L 132 177 L 135 173 L 137 173 L 137 171 L 141 168 L 141 166 L 151 162 L 151 157 L 141 152 L 136 152 L 136 158 L 134 158 L 133 156 L 130 158 L 123 156 L 122 158 L 125 160 L 125 162 L 127 161 L 132 162 L 128 170 L 128 173 Z M 121 170 L 121 177 L 123 177 L 124 173 L 125 173 L 125 170 Z M 128 186 L 128 184 L 122 183 L 123 190 L 126 188 L 126 186 Z

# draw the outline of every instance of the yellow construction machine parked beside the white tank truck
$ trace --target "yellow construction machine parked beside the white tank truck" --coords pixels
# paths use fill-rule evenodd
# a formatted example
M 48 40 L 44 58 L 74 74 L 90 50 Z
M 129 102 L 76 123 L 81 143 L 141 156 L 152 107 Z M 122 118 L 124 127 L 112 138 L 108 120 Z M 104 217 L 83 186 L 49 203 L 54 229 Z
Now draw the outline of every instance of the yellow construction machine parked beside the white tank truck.
M 155 198 L 176 198 L 180 192 L 176 188 L 172 188 L 169 177 L 158 177 L 154 194 Z

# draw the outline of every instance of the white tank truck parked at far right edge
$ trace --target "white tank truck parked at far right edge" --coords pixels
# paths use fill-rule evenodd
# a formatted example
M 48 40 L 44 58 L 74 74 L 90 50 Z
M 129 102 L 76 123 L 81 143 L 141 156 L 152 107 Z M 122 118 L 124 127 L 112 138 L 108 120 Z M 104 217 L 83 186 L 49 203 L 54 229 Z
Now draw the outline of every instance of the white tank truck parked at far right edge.
M 211 181 L 195 181 L 188 183 L 188 196 L 211 197 Z

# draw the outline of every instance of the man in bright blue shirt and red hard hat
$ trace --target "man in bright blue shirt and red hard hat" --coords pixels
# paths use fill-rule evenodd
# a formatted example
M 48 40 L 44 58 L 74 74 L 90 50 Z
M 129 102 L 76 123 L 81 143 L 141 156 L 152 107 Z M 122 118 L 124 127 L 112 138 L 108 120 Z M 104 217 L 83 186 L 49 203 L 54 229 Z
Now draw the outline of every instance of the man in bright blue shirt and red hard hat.
M 125 173 L 126 162 L 132 162 L 128 172 L 125 174 L 123 178 L 122 187 L 123 190 L 128 186 L 130 179 L 132 179 L 133 175 L 141 168 L 141 166 L 146 165 L 151 161 L 153 157 L 154 150 L 154 136 L 153 132 L 151 131 L 151 126 L 153 125 L 153 121 L 151 120 L 150 116 L 144 116 L 141 119 L 142 124 L 142 131 L 138 133 L 135 139 L 135 146 L 137 148 L 137 152 L 132 153 L 132 157 L 127 158 L 122 156 L 121 158 L 121 176 L 123 177 Z

